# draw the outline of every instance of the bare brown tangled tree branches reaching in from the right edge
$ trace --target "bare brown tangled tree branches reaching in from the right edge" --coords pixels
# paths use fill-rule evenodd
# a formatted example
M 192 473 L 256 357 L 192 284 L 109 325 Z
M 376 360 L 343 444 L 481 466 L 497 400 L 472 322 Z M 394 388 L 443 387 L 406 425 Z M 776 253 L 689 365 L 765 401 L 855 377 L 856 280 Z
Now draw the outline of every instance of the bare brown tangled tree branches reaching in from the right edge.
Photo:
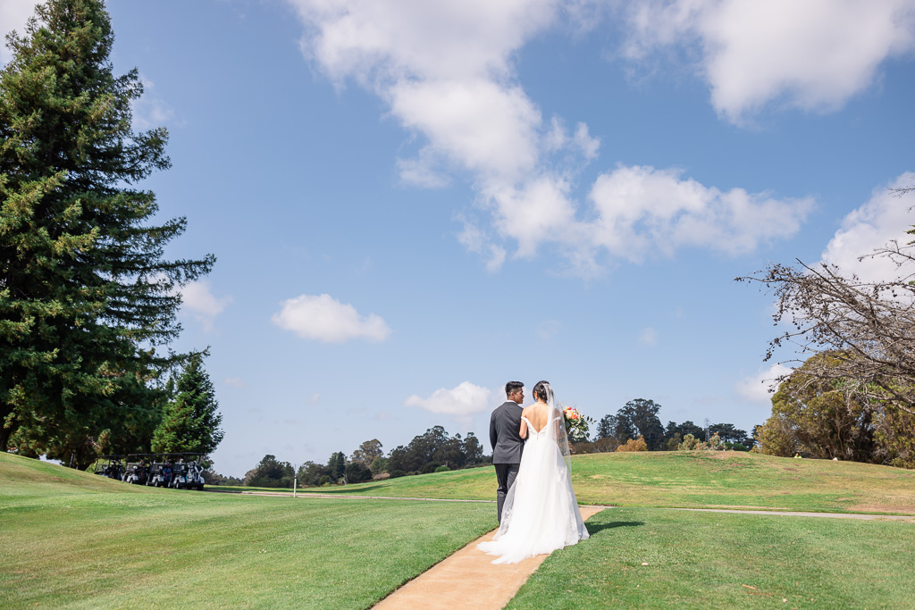
M 892 190 L 901 195 L 915 187 Z M 770 341 L 766 360 L 786 345 L 805 357 L 790 363 L 829 351 L 834 357 L 829 366 L 808 360 L 811 380 L 834 380 L 849 395 L 915 414 L 915 246 L 890 241 L 861 259 L 868 257 L 895 262 L 899 277 L 865 282 L 834 265 L 797 261 L 796 266 L 770 262 L 737 281 L 764 284 L 776 298 L 775 324 L 791 325 Z

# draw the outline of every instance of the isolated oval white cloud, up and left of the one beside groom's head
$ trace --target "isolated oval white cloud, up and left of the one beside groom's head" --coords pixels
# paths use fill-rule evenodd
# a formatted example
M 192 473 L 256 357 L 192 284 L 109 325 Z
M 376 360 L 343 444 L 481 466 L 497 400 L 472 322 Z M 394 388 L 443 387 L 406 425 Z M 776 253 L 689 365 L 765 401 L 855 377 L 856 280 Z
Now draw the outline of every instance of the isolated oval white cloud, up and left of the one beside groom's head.
M 280 305 L 282 309 L 270 319 L 305 339 L 324 343 L 356 338 L 383 341 L 391 334 L 391 328 L 380 316 L 360 316 L 355 307 L 340 303 L 329 294 L 302 294 Z

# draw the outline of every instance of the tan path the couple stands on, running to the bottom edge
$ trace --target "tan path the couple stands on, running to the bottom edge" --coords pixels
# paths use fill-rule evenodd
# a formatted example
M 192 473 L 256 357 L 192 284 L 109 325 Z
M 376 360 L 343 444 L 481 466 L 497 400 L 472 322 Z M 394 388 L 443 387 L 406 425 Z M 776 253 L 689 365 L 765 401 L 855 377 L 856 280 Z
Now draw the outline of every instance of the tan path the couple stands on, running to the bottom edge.
M 582 519 L 588 519 L 604 508 L 582 508 Z M 549 555 L 537 555 L 520 563 L 493 565 L 493 558 L 479 551 L 477 544 L 490 540 L 497 531 L 492 530 L 470 542 L 373 607 L 382 610 L 499 610 L 504 607 Z

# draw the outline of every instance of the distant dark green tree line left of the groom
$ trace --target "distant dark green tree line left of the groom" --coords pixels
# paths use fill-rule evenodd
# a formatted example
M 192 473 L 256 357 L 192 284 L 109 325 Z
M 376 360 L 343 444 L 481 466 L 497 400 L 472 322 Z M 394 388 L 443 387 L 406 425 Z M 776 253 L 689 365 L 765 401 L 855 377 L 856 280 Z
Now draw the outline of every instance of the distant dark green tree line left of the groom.
M 464 438 L 460 434 L 449 436 L 445 428 L 435 426 L 415 436 L 410 444 L 393 448 L 388 455 L 384 455 L 381 442 L 373 438 L 362 443 L 349 457 L 343 452 L 335 452 L 327 464 L 308 461 L 299 466 L 297 472 L 289 462 L 280 462 L 274 455 L 264 455 L 260 464 L 249 470 L 240 483 L 249 487 L 292 487 L 293 477 L 297 476 L 299 486 L 345 485 L 368 481 L 372 477 L 422 475 L 489 463 L 490 458 L 483 455 L 483 445 L 474 433 L 468 433 Z M 217 473 L 213 473 L 213 477 L 214 480 L 216 477 L 231 478 Z

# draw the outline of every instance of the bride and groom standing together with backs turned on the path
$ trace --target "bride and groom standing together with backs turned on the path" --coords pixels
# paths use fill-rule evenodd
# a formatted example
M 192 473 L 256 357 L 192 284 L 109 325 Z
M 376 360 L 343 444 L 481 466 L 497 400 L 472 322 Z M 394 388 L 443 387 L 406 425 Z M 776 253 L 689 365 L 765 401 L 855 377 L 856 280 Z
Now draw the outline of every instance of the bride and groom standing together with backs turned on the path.
M 505 384 L 508 401 L 492 412 L 490 444 L 499 489 L 499 531 L 478 548 L 515 563 L 588 537 L 572 489 L 565 419 L 546 381 L 533 386 L 534 403 L 522 409 L 524 386 Z

